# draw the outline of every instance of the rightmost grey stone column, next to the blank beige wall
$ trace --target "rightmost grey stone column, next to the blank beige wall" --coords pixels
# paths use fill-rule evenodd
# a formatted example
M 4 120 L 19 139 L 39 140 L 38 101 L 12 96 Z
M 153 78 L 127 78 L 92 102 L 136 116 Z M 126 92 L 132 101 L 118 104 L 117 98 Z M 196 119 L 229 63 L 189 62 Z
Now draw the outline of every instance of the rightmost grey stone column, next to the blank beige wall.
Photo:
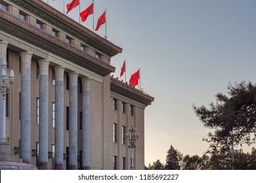
M 91 79 L 81 78 L 83 86 L 82 101 L 82 169 L 91 169 Z

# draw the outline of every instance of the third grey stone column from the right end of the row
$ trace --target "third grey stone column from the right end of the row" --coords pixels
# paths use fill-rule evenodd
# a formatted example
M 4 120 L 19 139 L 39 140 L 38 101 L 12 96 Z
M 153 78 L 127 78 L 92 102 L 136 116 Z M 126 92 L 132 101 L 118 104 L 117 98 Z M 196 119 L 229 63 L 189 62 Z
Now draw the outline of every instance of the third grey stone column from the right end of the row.
M 55 154 L 54 169 L 63 169 L 63 120 L 64 120 L 64 70 L 62 66 L 55 66 Z

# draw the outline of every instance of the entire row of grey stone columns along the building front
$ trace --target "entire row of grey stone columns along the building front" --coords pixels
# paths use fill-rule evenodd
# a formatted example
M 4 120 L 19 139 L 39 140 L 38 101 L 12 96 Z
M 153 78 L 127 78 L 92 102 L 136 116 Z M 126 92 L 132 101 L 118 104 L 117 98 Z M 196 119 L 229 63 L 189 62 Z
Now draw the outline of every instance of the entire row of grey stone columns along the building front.
M 0 73 L 2 62 L 6 59 L 8 42 L 0 41 Z M 32 52 L 20 52 L 20 140 L 21 158 L 24 163 L 30 163 L 30 115 L 31 115 L 31 61 Z M 48 59 L 38 59 L 39 64 L 39 157 L 38 168 L 48 169 L 48 116 L 49 116 L 49 64 Z M 64 148 L 64 70 L 65 68 L 54 66 L 55 73 L 55 127 L 54 127 L 54 168 L 63 169 L 63 148 Z M 70 114 L 69 114 L 69 169 L 77 169 L 77 79 L 78 73 L 69 72 L 70 78 Z M 90 96 L 91 79 L 82 77 L 82 169 L 90 169 Z M 1 85 L 0 81 L 0 85 Z M 15 84 L 15 83 L 14 83 Z M 0 116 L 3 116 L 3 99 L 0 96 Z M 1 113 L 2 112 L 2 113 Z M 3 120 L 0 120 L 0 127 L 3 128 Z M 1 134 L 1 133 L 0 133 Z M 1 137 L 5 134 L 1 134 Z

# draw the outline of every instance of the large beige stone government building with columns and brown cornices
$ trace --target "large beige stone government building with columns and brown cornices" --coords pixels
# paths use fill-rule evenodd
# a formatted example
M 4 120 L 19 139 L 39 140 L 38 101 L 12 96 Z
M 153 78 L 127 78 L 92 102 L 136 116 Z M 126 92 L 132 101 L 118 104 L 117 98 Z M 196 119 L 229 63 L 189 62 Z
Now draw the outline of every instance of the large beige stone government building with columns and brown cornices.
M 0 1 L 0 73 L 7 63 L 15 76 L 6 99 L 0 93 L 11 156 L 38 169 L 131 169 L 133 125 L 135 169 L 144 169 L 144 110 L 154 97 L 112 76 L 121 52 L 43 1 Z

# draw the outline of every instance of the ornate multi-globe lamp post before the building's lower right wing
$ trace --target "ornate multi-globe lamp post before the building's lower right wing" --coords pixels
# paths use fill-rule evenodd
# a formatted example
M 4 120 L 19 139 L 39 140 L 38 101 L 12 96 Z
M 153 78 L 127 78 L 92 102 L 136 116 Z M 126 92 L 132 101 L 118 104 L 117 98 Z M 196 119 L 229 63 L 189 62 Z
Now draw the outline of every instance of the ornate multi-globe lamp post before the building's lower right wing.
M 131 148 L 131 170 L 135 169 L 135 150 L 136 150 L 136 141 L 139 138 L 139 133 L 136 132 L 136 128 L 131 125 L 131 128 L 129 129 L 129 133 L 126 133 L 126 139 L 129 141 L 130 145 L 129 148 Z

